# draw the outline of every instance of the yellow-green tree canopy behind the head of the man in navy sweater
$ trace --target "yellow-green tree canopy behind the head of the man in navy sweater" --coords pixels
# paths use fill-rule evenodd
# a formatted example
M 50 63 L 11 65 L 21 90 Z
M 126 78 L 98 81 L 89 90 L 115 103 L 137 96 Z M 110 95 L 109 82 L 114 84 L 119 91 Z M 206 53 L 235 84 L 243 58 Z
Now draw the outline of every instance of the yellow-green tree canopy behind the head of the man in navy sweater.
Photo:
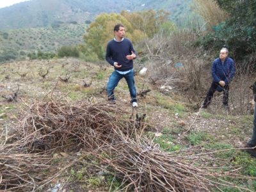
M 86 29 L 84 35 L 86 50 L 95 52 L 99 59 L 103 59 L 106 44 L 114 37 L 113 28 L 117 23 L 124 24 L 125 36 L 136 44 L 147 36 L 154 36 L 163 29 L 161 26 L 167 21 L 168 13 L 164 11 L 102 13 Z

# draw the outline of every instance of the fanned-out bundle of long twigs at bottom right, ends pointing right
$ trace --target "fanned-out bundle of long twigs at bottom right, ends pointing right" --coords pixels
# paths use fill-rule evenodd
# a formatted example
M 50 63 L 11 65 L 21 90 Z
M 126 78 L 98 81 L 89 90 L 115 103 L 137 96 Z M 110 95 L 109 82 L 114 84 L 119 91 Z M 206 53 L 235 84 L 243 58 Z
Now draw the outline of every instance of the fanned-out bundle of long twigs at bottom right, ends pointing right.
M 108 154 L 109 149 L 111 154 Z M 182 153 L 163 152 L 154 143 L 133 140 L 109 145 L 104 156 L 92 152 L 106 165 L 105 172 L 123 180 L 120 191 L 211 191 L 220 186 L 250 191 L 224 180 L 249 178 L 237 174 L 229 161 L 215 159 L 209 154 L 188 156 L 189 150 Z

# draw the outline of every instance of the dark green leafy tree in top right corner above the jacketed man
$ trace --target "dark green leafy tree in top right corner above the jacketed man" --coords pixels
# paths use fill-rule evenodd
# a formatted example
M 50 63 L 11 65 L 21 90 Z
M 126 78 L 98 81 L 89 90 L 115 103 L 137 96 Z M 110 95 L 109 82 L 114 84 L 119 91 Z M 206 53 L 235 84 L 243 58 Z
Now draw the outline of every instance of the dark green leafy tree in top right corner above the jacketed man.
M 229 13 L 225 22 L 212 28 L 212 33 L 200 38 L 196 45 L 219 51 L 226 45 L 236 61 L 249 60 L 256 51 L 256 3 L 255 1 L 216 0 Z

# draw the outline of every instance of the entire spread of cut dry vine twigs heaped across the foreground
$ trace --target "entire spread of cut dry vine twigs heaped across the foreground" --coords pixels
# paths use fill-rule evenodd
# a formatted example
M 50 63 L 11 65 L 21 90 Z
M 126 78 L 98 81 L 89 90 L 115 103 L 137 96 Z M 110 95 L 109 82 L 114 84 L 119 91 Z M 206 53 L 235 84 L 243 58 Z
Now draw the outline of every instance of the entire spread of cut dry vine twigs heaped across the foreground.
M 106 103 L 35 102 L 22 111 L 13 134 L 2 137 L 0 190 L 34 191 L 44 186 L 49 177 L 43 170 L 51 168 L 51 152 L 77 146 L 100 159 L 102 170 L 123 180 L 120 190 L 210 191 L 221 185 L 239 188 L 224 178 L 246 179 L 211 154 L 161 151 L 143 136 L 145 124 L 132 117 L 123 106 Z

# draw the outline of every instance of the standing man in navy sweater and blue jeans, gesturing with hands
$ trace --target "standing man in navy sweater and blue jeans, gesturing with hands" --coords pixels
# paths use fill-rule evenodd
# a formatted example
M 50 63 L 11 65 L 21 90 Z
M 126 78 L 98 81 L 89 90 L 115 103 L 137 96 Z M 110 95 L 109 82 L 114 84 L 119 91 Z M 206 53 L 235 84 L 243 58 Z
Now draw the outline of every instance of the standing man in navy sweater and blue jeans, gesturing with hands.
M 115 103 L 115 87 L 124 77 L 129 87 L 132 106 L 138 107 L 132 61 L 136 58 L 136 51 L 131 41 L 124 38 L 125 28 L 122 24 L 115 25 L 114 33 L 115 38 L 108 42 L 106 49 L 106 60 L 115 68 L 107 84 L 108 100 Z

